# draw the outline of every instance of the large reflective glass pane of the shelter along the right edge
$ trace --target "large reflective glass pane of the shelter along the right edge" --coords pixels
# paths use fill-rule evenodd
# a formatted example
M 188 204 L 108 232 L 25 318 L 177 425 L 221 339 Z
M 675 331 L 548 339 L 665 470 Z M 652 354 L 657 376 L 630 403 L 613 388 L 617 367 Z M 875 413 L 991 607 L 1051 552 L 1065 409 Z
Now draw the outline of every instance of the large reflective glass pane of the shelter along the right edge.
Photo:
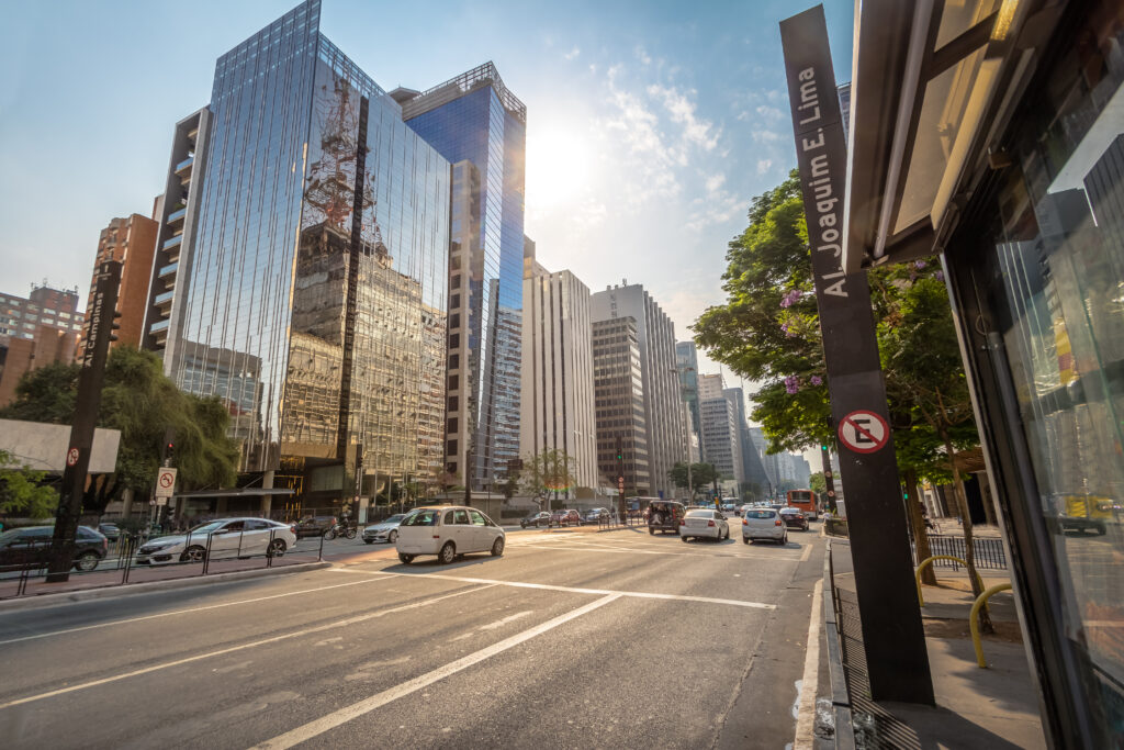
M 1124 7 L 1031 87 L 999 190 L 998 319 L 1089 706 L 1124 735 Z M 1099 722 L 1098 722 L 1099 723 Z

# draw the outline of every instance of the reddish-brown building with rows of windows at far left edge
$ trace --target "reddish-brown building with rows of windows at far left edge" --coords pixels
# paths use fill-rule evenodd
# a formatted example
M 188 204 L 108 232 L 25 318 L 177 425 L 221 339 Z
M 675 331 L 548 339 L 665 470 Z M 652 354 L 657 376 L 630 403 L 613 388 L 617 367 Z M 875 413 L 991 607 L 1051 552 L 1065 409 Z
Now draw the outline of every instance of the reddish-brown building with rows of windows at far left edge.
M 0 293 L 0 406 L 16 397 L 25 372 L 73 362 L 81 331 L 78 289 L 44 283 L 27 297 Z

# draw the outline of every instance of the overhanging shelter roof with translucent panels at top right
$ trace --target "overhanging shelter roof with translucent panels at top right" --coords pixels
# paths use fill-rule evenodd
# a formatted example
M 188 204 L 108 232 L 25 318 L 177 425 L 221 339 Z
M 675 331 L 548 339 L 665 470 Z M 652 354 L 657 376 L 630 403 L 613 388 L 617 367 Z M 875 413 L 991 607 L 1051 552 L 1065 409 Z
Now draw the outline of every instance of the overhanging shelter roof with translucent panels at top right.
M 1064 2 L 856 2 L 843 264 L 940 252 Z

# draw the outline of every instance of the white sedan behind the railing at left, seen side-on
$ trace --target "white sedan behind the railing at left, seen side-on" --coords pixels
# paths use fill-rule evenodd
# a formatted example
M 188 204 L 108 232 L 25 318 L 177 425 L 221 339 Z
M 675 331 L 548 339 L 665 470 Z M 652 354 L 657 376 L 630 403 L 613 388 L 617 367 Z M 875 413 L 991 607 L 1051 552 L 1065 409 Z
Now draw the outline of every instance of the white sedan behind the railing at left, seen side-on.
M 145 542 L 137 550 L 136 564 L 201 562 L 208 554 L 212 560 L 255 554 L 281 557 L 296 543 L 297 534 L 289 524 L 268 518 L 220 518 L 196 526 L 187 534 Z

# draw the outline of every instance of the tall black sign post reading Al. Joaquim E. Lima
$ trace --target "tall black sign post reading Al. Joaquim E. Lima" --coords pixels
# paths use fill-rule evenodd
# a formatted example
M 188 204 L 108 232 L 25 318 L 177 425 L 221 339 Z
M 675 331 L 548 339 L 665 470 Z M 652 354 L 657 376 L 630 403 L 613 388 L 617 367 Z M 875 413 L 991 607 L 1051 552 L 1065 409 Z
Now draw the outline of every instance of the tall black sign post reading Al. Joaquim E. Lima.
M 865 273 L 843 271 L 846 142 L 823 6 L 780 24 L 871 697 L 933 704 Z

